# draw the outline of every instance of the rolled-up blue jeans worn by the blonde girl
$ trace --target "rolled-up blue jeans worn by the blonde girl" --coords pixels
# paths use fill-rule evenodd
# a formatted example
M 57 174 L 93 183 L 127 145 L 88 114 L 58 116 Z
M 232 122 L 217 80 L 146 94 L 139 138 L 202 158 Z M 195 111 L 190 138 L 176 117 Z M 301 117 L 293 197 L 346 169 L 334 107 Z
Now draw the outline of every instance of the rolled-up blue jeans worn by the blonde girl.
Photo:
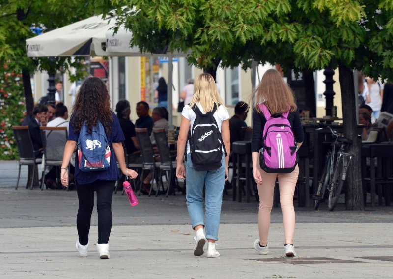
M 187 154 L 186 186 L 187 209 L 193 228 L 203 225 L 206 228 L 206 238 L 218 240 L 221 204 L 225 183 L 225 155 L 221 167 L 217 170 L 196 171 L 191 155 Z M 205 212 L 203 212 L 203 186 L 205 186 Z

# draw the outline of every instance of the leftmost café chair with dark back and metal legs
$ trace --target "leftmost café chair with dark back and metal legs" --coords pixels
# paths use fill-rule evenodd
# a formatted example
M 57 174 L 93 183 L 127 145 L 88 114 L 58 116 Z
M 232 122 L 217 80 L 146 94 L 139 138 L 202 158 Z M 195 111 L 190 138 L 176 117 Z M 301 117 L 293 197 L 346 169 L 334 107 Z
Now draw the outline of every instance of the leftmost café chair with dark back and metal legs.
M 31 141 L 30 133 L 28 132 L 28 126 L 12 126 L 12 130 L 14 132 L 14 136 L 19 152 L 19 171 L 18 171 L 18 179 L 16 182 L 15 190 L 18 189 L 19 179 L 21 177 L 22 165 L 34 166 L 34 169 L 32 171 L 33 177 L 31 179 L 31 185 L 30 185 L 30 189 L 33 189 L 34 176 L 37 170 L 37 165 L 41 164 L 42 162 L 42 159 L 36 158 L 36 155 L 38 153 L 41 153 L 41 151 L 34 150 L 33 142 Z M 28 185 L 26 185 L 26 188 L 28 188 Z

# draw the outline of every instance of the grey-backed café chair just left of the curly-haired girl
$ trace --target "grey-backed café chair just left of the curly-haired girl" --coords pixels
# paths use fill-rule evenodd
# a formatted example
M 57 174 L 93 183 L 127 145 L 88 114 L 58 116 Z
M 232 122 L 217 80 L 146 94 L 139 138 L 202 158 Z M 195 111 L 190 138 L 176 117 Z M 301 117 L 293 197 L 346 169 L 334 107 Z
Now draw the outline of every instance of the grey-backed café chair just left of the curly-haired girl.
M 40 126 L 41 139 L 44 146 L 44 156 L 42 169 L 42 181 L 41 190 L 44 190 L 45 172 L 46 168 L 61 167 L 63 163 L 63 154 L 65 143 L 67 142 L 68 133 L 67 127 L 45 127 Z M 70 165 L 67 167 L 68 179 L 70 177 Z M 56 177 L 59 177 L 59 173 L 56 171 Z M 57 181 L 58 183 L 58 181 Z M 67 191 L 69 187 L 66 188 Z

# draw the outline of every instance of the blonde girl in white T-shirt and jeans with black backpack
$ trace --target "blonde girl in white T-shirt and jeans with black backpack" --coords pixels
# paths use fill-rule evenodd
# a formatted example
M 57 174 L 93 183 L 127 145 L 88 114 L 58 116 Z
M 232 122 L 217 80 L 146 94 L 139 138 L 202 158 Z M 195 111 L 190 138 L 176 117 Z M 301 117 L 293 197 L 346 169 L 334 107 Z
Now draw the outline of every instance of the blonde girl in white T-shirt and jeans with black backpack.
M 218 240 L 224 183 L 228 176 L 230 153 L 228 119 L 229 114 L 217 91 L 213 77 L 205 73 L 199 75 L 190 105 L 185 105 L 182 112 L 177 140 L 176 167 L 177 178 L 186 179 L 187 209 L 192 227 L 197 234 L 194 238 L 196 241 L 195 256 L 203 254 L 206 239 L 208 241 L 207 257 L 220 256 L 216 250 L 216 241 Z M 211 123 L 203 123 L 203 121 L 211 121 Z M 183 155 L 186 143 L 187 160 L 186 167 L 184 167 Z M 202 150 L 203 147 L 206 150 Z M 222 150 L 225 151 L 225 155 Z M 214 167 L 212 162 L 214 162 Z M 203 212 L 203 193 L 205 193 L 205 213 Z M 206 235 L 203 228 L 206 228 Z

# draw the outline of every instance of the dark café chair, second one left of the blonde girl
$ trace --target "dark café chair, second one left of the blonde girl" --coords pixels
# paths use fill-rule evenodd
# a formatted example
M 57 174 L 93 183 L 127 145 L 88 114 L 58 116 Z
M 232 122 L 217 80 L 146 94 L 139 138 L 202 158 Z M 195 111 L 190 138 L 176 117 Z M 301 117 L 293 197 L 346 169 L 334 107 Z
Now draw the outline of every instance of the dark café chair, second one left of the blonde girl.
M 153 145 L 151 144 L 149 132 L 147 128 L 135 128 L 135 133 L 137 134 L 137 140 L 140 146 L 140 151 L 142 152 L 142 170 L 140 173 L 139 191 L 140 195 L 142 191 L 143 175 L 145 172 L 153 172 L 153 176 L 150 181 L 149 196 L 153 190 L 153 182 L 156 181 L 157 188 L 159 187 L 157 180 L 157 170 L 160 169 L 160 162 L 156 162 L 158 155 L 154 154 Z M 157 189 L 159 191 L 159 189 Z

